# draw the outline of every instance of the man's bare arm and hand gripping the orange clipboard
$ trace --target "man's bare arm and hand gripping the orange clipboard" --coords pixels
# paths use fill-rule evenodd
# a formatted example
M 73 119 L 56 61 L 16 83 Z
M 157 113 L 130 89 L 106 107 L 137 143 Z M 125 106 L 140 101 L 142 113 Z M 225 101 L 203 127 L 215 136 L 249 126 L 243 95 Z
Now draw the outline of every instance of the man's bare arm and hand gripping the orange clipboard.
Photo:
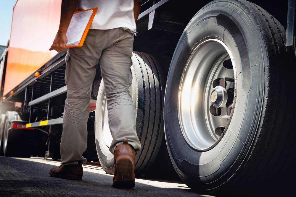
M 59 30 L 49 50 L 56 50 L 57 52 L 66 51 L 67 43 L 66 32 L 69 27 L 73 13 L 75 12 L 79 0 L 62 0 L 61 19 L 59 22 Z

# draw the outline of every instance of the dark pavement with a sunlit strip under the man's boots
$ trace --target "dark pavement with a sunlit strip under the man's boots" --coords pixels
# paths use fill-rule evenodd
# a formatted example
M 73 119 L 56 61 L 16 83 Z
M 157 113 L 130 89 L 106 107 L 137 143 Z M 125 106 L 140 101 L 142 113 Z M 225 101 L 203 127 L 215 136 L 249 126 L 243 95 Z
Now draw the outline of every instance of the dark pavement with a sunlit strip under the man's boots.
M 113 175 L 94 162 L 83 166 L 81 181 L 50 177 L 50 168 L 59 165 L 42 158 L 0 157 L 0 196 L 205 196 L 179 180 L 136 178 L 135 188 L 115 189 Z

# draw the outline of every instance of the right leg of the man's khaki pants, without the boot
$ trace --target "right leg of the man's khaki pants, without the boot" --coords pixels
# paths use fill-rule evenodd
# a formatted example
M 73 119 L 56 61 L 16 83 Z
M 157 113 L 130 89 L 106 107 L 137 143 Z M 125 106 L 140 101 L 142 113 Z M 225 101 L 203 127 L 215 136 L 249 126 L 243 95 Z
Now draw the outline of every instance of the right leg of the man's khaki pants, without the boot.
M 110 152 L 114 154 L 115 147 L 122 144 L 123 139 L 127 139 L 135 150 L 139 150 L 141 144 L 136 133 L 135 110 L 129 93 L 133 35 L 122 28 L 107 30 L 107 33 L 110 41 L 116 42 L 104 49 L 100 59 L 109 126 L 113 136 Z

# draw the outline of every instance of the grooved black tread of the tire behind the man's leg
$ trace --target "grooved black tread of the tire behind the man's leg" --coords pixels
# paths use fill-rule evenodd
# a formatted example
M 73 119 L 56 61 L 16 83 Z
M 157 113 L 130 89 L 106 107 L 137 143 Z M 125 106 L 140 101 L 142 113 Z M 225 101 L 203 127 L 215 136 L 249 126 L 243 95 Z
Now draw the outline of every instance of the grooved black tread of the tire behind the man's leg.
M 143 174 L 153 164 L 159 151 L 161 139 L 164 137 L 162 123 L 163 91 L 161 90 L 163 75 L 158 67 L 158 62 L 149 54 L 134 52 L 143 79 L 143 103 L 141 131 L 139 140 L 142 149 L 136 152 L 136 174 Z M 155 75 L 155 71 L 156 74 Z M 149 103 L 149 107 L 148 107 Z M 147 107 L 149 110 L 147 110 Z M 139 109 L 138 109 L 139 110 Z

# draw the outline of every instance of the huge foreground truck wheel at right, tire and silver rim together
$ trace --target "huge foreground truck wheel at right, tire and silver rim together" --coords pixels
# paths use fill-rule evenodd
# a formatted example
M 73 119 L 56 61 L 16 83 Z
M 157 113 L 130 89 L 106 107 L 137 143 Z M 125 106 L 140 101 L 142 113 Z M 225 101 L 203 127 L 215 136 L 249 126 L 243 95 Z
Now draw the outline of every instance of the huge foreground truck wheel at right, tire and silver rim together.
M 164 124 L 173 166 L 190 188 L 231 192 L 295 171 L 296 65 L 284 39 L 273 16 L 244 0 L 212 1 L 186 26 Z

